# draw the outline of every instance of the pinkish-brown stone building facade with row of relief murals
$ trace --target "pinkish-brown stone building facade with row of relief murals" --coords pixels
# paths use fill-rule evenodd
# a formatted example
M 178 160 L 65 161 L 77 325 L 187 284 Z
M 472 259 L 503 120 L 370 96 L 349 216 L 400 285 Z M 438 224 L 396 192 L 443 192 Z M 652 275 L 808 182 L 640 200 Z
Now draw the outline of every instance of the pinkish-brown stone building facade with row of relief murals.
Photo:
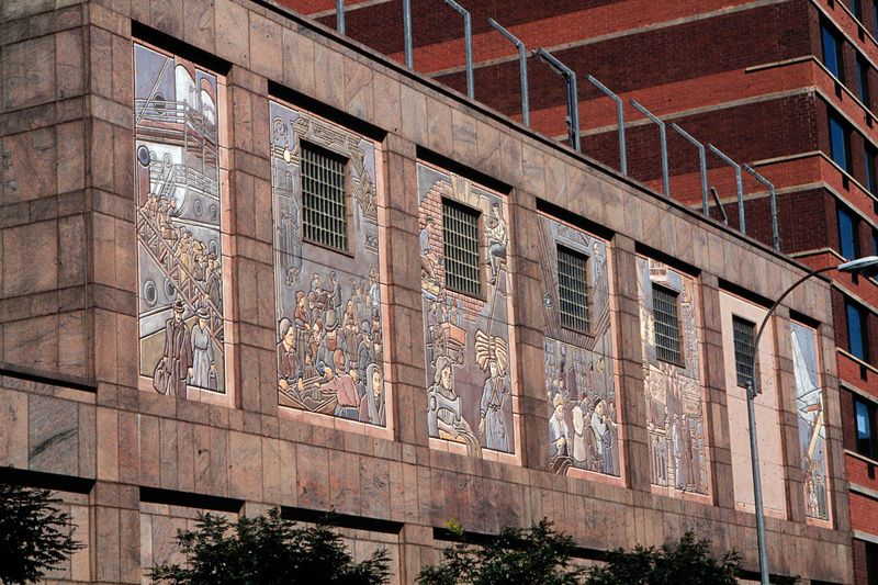
M 0 476 L 71 511 L 54 578 L 271 506 L 398 583 L 451 518 L 757 569 L 734 324 L 801 266 L 272 2 L 60 4 L 0 8 Z M 772 569 L 848 583 L 826 282 L 769 331 Z

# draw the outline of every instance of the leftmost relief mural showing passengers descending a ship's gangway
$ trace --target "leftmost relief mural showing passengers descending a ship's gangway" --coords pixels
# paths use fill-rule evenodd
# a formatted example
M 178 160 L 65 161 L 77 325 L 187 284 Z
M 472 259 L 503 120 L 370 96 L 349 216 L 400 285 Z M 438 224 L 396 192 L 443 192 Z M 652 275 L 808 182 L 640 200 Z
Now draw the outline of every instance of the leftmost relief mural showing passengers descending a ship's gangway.
M 140 375 L 226 392 L 217 76 L 134 45 Z

